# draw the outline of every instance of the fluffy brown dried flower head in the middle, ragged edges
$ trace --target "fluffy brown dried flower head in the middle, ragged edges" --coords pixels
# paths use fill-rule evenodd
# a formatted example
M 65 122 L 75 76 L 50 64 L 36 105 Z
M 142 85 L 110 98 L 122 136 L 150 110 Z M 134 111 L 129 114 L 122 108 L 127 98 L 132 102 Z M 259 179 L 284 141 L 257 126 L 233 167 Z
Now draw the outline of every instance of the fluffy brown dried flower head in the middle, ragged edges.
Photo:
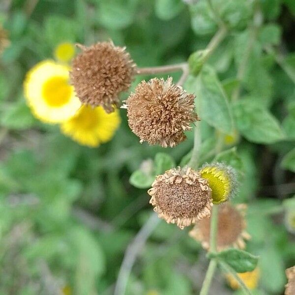
M 142 81 L 125 101 L 128 123 L 140 142 L 174 147 L 186 137 L 184 130 L 198 120 L 195 95 L 172 83 L 172 78 Z

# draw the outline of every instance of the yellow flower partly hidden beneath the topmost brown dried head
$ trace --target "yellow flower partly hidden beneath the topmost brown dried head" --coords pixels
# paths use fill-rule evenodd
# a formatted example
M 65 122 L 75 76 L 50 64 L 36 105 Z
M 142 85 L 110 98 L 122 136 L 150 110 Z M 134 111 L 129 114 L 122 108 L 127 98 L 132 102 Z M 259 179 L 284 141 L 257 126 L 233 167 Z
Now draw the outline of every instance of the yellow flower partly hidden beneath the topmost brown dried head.
M 118 110 L 107 114 L 102 107 L 83 105 L 76 116 L 60 125 L 60 129 L 81 145 L 97 147 L 111 140 L 119 123 Z

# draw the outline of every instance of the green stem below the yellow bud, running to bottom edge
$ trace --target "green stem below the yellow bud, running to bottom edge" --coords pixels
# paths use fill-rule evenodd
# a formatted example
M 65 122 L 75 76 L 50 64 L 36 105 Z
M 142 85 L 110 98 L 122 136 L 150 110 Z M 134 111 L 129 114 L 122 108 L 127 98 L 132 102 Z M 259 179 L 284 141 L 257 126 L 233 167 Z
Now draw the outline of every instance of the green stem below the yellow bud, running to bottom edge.
M 216 252 L 217 226 L 218 226 L 218 205 L 213 205 L 212 212 L 211 212 L 211 223 L 210 223 L 210 252 L 212 253 Z M 208 294 L 216 266 L 217 266 L 217 260 L 215 258 L 211 259 L 200 295 Z

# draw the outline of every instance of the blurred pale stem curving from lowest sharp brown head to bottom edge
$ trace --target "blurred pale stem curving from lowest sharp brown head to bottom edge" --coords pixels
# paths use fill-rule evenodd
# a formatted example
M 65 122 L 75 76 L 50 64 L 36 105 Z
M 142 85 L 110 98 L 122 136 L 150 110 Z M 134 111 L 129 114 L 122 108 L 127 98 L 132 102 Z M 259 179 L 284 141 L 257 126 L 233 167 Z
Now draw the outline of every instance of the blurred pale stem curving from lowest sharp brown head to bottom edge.
M 126 290 L 127 281 L 135 263 L 136 257 L 142 251 L 148 237 L 158 225 L 160 219 L 156 213 L 151 213 L 148 221 L 141 228 L 134 240 L 129 244 L 125 252 L 123 262 L 121 264 L 118 279 L 115 286 L 114 295 L 124 295 Z

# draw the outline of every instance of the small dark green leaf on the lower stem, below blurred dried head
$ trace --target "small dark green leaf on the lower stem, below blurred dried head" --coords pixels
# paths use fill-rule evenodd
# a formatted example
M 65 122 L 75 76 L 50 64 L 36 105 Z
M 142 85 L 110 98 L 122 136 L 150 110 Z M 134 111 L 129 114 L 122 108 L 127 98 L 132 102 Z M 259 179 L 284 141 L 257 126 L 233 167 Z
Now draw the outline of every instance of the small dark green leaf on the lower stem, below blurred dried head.
M 256 268 L 258 263 L 258 256 L 234 248 L 214 254 L 214 257 L 223 260 L 236 272 L 252 271 Z

